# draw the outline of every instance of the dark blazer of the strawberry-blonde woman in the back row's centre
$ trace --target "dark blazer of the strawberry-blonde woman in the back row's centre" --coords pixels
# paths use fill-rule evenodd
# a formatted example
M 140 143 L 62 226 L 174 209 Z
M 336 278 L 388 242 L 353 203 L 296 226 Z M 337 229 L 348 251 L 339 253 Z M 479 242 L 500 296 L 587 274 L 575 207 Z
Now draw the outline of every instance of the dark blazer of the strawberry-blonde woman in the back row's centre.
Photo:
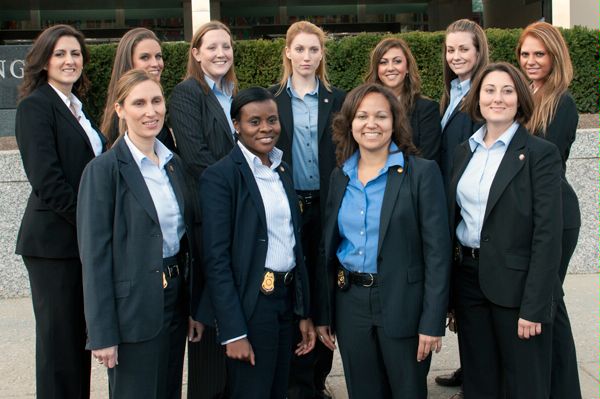
M 269 88 L 276 94 L 279 85 Z M 319 116 L 317 130 L 319 137 L 319 187 L 321 191 L 321 211 L 325 210 L 325 201 L 329 188 L 329 175 L 335 167 L 335 146 L 331 141 L 331 122 L 333 116 L 342 108 L 346 93 L 335 87 L 328 91 L 323 83 L 319 83 Z M 283 151 L 283 160 L 292 165 L 292 143 L 294 141 L 294 115 L 292 113 L 292 99 L 285 88 L 275 97 L 281 123 L 281 135 L 277 147 Z M 293 174 L 290 172 L 290 175 Z

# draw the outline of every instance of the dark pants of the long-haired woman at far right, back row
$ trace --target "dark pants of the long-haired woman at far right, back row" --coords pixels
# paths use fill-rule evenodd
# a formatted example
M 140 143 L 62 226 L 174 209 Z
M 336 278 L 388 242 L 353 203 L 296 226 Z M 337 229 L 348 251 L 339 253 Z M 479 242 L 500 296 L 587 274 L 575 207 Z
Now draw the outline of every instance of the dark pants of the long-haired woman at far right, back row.
M 571 256 L 577 246 L 579 228 L 563 230 L 562 255 L 558 275 L 564 283 Z M 577 354 L 567 306 L 563 297 L 557 298 L 556 316 L 552 330 L 552 399 L 581 399 Z

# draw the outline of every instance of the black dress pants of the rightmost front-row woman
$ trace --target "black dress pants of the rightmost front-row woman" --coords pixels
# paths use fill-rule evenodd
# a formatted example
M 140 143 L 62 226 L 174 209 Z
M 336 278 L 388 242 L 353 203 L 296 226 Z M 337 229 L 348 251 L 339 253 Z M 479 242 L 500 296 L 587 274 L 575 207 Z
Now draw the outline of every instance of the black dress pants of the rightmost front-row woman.
M 465 257 L 453 284 L 465 398 L 547 399 L 552 324 L 542 324 L 541 335 L 520 339 L 519 309 L 498 306 L 485 297 L 478 260 Z

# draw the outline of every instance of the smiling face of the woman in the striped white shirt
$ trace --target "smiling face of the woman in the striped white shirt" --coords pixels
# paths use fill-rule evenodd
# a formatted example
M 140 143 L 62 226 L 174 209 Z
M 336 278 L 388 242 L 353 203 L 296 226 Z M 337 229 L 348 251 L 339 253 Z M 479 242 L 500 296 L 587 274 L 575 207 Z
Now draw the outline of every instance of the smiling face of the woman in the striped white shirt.
M 239 140 L 263 164 L 268 164 L 268 155 L 281 133 L 277 104 L 273 100 L 254 101 L 242 107 L 233 127 Z

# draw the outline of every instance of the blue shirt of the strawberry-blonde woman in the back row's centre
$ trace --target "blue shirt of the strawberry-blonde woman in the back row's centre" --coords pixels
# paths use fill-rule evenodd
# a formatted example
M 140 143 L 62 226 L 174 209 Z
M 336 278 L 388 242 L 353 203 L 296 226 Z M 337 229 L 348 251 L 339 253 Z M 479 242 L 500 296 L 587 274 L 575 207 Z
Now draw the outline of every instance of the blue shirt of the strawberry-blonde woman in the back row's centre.
M 319 79 L 315 88 L 300 98 L 288 78 L 286 91 L 292 101 L 294 132 L 292 140 L 292 163 L 294 188 L 296 190 L 318 190 L 319 181 Z

